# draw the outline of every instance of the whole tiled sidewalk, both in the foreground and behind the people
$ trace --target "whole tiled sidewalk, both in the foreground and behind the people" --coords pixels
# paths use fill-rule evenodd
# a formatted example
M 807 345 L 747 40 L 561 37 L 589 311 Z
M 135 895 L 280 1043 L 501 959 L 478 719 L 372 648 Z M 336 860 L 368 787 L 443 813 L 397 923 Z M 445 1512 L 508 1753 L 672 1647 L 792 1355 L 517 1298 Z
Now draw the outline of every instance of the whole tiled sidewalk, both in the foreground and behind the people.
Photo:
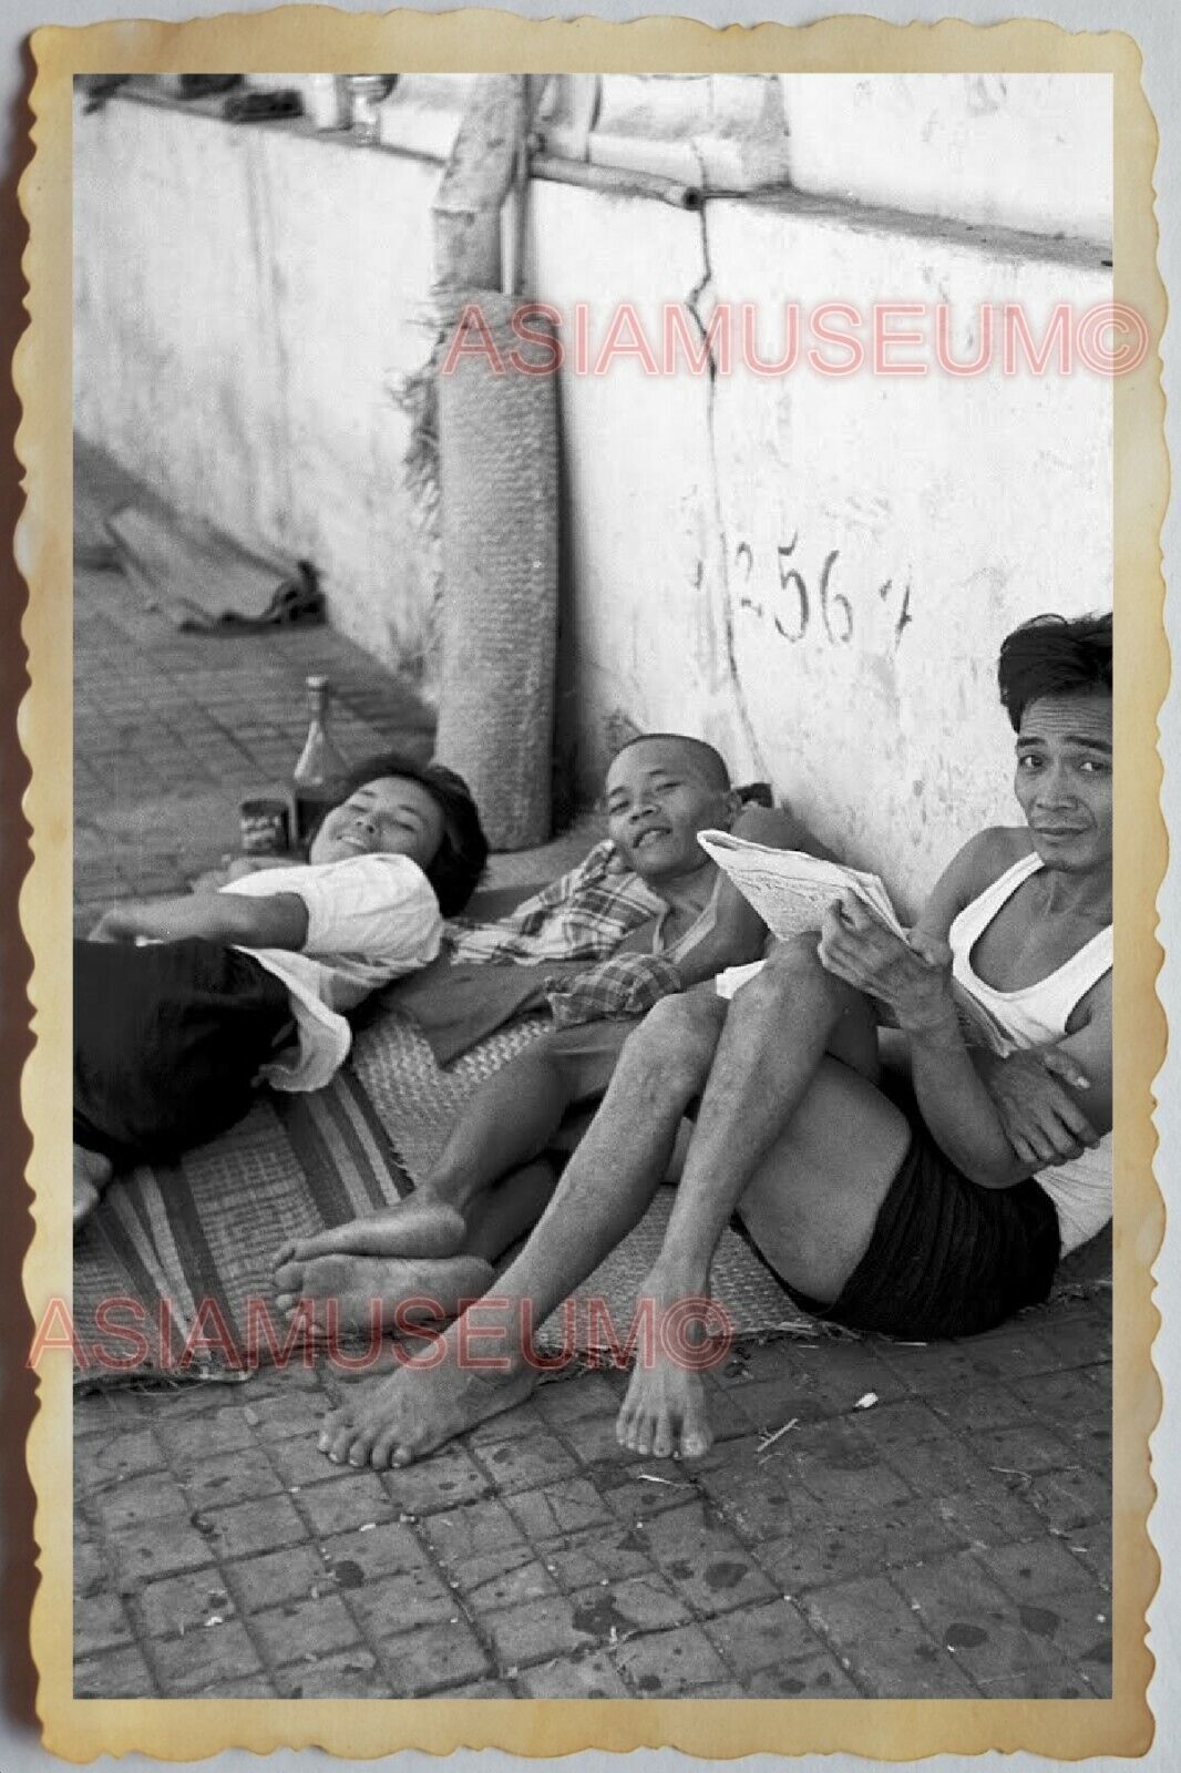
M 117 574 L 80 578 L 76 663 L 80 927 L 236 847 L 238 796 L 298 752 L 305 672 L 349 752 L 429 750 L 426 711 L 328 629 L 177 635 Z M 1108 1303 L 750 1349 L 709 1379 L 720 1441 L 692 1470 L 617 1449 L 615 1374 L 381 1475 L 316 1450 L 333 1374 L 87 1395 L 76 1690 L 1103 1695 Z

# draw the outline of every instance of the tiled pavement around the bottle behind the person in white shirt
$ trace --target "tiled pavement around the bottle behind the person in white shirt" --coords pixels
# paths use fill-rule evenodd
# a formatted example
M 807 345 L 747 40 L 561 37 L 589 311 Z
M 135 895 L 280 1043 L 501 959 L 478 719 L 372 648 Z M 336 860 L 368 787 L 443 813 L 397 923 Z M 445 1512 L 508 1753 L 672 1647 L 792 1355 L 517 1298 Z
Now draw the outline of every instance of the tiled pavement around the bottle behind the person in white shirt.
M 330 628 L 181 633 L 117 573 L 74 587 L 74 901 L 184 892 L 239 849 L 238 801 L 285 785 L 307 736 L 305 677 L 333 686 L 346 757 L 431 752 L 433 718 Z

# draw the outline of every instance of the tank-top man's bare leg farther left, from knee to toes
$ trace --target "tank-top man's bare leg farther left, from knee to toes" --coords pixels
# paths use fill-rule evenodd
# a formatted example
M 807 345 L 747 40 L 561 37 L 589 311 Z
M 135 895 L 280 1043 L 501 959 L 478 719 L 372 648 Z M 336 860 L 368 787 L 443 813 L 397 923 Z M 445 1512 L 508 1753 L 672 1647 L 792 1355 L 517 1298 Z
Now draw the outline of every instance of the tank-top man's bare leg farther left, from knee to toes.
M 699 1094 L 725 1004 L 708 989 L 665 998 L 626 1043 L 610 1089 L 573 1154 L 550 1207 L 497 1285 L 502 1307 L 491 1353 L 475 1367 L 479 1332 L 461 1319 L 429 1372 L 403 1371 L 358 1386 L 348 1411 L 328 1418 L 321 1450 L 351 1464 L 406 1464 L 454 1434 L 518 1404 L 536 1374 L 525 1324 L 541 1321 L 642 1218 L 660 1188 L 686 1106 Z M 507 1340 L 507 1355 L 505 1355 Z

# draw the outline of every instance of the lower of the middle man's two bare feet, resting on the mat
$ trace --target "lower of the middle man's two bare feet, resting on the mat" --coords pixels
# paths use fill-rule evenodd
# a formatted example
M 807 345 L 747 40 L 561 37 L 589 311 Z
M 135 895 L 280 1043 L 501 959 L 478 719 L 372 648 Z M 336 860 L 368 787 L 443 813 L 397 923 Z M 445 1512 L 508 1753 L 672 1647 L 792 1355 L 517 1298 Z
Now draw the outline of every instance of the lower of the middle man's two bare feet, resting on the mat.
M 406 1262 L 374 1255 L 317 1255 L 275 1271 L 275 1303 L 291 1319 L 312 1301 L 312 1324 L 369 1333 L 374 1310 L 385 1330 L 454 1317 L 465 1301 L 488 1293 L 493 1269 L 479 1255 Z M 374 1303 L 376 1301 L 376 1303 Z M 332 1307 L 332 1316 L 330 1316 Z

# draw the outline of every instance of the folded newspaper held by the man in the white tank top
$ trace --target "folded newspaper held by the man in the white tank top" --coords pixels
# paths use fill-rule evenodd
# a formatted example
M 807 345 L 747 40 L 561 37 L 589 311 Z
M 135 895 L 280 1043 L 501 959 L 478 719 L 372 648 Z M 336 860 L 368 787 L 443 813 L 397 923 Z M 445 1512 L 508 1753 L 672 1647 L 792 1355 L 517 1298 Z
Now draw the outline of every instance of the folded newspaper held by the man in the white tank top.
M 906 941 L 906 931 L 876 874 L 846 867 L 844 862 L 821 862 L 803 849 L 770 849 L 745 837 L 731 837 L 729 832 L 699 832 L 697 842 L 729 874 L 773 936 L 798 936 L 819 929 L 830 904 L 851 892 L 881 918 L 887 929 Z M 754 966 L 731 968 L 731 989 L 722 991 L 722 996 L 732 996 L 745 982 L 739 975 L 750 975 L 761 965 L 755 961 Z M 1002 1058 L 1016 1051 L 1009 1032 L 984 1004 L 961 989 L 952 989 L 961 1027 L 972 1044 L 988 1046 Z

